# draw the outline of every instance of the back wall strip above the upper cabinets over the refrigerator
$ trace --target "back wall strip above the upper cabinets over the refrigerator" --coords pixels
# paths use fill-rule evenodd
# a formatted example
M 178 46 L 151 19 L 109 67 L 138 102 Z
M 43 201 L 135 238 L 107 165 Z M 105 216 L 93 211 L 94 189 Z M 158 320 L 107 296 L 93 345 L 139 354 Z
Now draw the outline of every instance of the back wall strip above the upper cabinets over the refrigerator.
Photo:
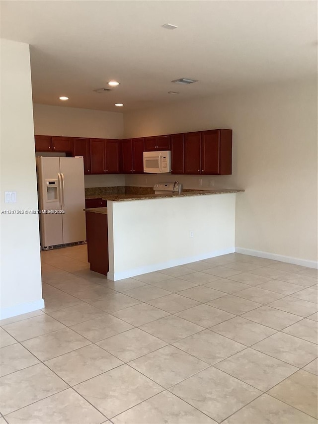
M 123 113 L 34 104 L 34 133 L 64 137 L 122 138 Z

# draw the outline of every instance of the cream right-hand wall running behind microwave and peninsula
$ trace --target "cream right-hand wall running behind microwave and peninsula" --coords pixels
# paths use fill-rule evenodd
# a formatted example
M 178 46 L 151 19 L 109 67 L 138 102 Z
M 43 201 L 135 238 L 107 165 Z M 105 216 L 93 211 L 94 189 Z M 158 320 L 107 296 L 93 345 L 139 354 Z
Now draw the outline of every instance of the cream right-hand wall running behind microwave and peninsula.
M 124 137 L 211 128 L 233 129 L 232 176 L 202 176 L 203 186 L 239 187 L 236 246 L 281 260 L 317 261 L 317 81 L 249 91 L 127 113 Z M 147 178 L 147 182 L 146 182 Z M 198 176 L 128 176 L 127 184 Z M 317 264 L 317 262 L 316 262 Z

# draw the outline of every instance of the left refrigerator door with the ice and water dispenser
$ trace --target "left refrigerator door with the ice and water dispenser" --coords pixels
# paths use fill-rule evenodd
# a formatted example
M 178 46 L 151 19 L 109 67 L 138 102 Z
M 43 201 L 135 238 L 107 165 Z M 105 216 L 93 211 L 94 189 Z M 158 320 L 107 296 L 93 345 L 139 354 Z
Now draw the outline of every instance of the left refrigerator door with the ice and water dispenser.
M 43 211 L 61 210 L 60 158 L 36 158 L 42 249 L 63 244 L 62 214 Z

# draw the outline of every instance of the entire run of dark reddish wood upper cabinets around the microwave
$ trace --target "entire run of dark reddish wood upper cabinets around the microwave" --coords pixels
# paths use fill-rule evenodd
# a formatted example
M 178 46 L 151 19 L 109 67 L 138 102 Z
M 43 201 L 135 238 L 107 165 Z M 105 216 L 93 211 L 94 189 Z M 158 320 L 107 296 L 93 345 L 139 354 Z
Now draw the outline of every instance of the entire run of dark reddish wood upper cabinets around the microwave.
M 172 174 L 232 173 L 232 130 L 229 129 L 127 140 L 35 135 L 36 152 L 82 156 L 85 174 L 142 174 L 143 153 L 159 150 L 171 150 Z

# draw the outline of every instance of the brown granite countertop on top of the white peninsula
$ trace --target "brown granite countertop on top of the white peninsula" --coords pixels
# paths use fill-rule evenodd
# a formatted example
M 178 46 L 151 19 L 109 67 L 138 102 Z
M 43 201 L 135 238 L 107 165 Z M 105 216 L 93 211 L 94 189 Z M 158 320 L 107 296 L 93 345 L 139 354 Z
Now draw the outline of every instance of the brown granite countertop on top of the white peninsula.
M 160 199 L 164 197 L 187 197 L 187 196 L 202 196 L 208 194 L 225 194 L 225 193 L 240 193 L 245 190 L 236 189 L 236 188 L 225 188 L 225 189 L 216 189 L 216 190 L 189 190 L 183 191 L 181 194 L 104 194 L 102 196 L 103 200 L 113 200 L 115 202 L 122 202 L 128 200 L 148 200 L 148 199 Z M 105 208 L 95 208 L 95 209 L 105 209 Z M 88 209 L 91 211 L 91 209 Z M 102 213 L 102 212 L 100 212 Z

